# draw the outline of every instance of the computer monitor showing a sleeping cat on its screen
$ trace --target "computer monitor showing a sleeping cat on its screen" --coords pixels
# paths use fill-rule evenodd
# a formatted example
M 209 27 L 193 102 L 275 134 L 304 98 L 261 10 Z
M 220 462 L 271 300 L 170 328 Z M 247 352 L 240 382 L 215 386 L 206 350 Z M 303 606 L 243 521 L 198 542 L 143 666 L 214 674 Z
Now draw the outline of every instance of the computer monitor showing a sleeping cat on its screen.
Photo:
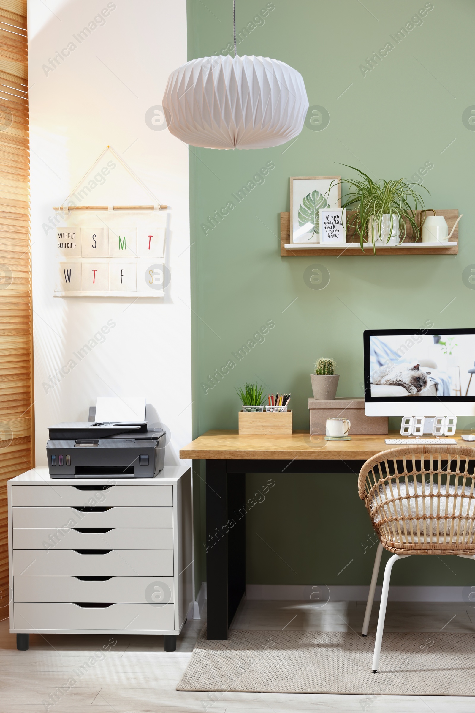
M 475 329 L 366 329 L 367 416 L 475 416 Z

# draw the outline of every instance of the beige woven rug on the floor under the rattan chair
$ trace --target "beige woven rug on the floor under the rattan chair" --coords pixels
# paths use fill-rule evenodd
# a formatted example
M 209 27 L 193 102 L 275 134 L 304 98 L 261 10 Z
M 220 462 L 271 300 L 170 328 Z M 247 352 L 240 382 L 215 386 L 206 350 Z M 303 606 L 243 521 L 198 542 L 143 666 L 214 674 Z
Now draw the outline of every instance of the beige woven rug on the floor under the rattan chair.
M 228 641 L 198 639 L 178 691 L 352 693 L 366 696 L 475 695 L 475 635 L 232 630 Z M 368 704 L 371 700 L 368 700 Z

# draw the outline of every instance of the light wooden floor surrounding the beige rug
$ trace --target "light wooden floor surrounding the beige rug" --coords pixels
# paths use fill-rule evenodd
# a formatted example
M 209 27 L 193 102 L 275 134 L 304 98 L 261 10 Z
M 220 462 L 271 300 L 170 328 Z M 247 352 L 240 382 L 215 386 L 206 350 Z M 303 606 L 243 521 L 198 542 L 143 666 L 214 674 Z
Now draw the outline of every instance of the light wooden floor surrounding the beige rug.
M 370 630 L 374 630 L 375 603 Z M 241 603 L 239 629 L 359 631 L 362 602 Z M 453 618 L 451 618 L 453 617 Z M 451 619 L 451 621 L 449 621 Z M 449 623 L 447 623 L 449 622 Z M 175 690 L 187 667 L 204 620 L 192 620 L 179 637 L 177 652 L 163 651 L 162 637 L 31 635 L 30 650 L 16 650 L 9 620 L 0 622 L 0 713 L 43 713 L 44 700 L 74 677 L 77 682 L 51 704 L 53 713 L 474 713 L 475 697 L 190 693 Z M 387 631 L 475 631 L 475 607 L 454 602 L 388 602 Z M 114 643 L 116 641 L 116 643 Z M 91 657 L 94 657 L 93 659 Z M 89 662 L 90 668 L 87 664 Z M 80 667 L 83 674 L 78 675 Z M 86 671 L 86 669 L 88 669 Z

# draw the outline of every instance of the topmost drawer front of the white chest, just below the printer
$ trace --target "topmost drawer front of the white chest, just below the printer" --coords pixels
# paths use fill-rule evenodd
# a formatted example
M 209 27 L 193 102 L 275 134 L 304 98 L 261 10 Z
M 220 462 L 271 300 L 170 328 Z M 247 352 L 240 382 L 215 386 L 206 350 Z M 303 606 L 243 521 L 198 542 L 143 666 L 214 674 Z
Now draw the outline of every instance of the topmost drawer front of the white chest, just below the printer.
M 152 506 L 171 508 L 173 486 L 117 485 L 105 491 L 79 490 L 89 486 L 11 486 L 11 504 L 16 507 L 51 506 L 53 508 L 83 506 Z

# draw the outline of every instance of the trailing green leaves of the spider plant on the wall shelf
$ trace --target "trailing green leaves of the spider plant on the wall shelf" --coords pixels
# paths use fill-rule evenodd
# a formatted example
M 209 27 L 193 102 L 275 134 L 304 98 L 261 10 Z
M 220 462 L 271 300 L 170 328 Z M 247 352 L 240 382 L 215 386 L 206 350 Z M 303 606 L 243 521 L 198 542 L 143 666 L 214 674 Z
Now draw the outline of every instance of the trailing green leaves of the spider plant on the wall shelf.
M 354 228 L 356 235 L 360 238 L 362 250 L 364 250 L 363 242 L 370 240 L 368 222 L 371 220 L 373 225 L 371 231 L 372 250 L 376 254 L 375 230 L 377 230 L 377 235 L 382 235 L 384 215 L 390 216 L 390 230 L 386 242 L 390 241 L 395 216 L 400 225 L 400 243 L 407 235 L 406 220 L 412 227 L 412 234 L 415 240 L 419 240 L 420 227 L 422 227 L 422 222 L 424 221 L 421 220 L 421 225 L 417 225 L 416 211 L 420 208 L 422 211 L 421 218 L 425 218 L 425 207 L 422 196 L 412 188 L 414 184 L 406 183 L 404 178 L 375 182 L 359 168 L 346 163 L 343 165 L 357 171 L 362 178 L 343 178 L 332 181 L 330 188 L 332 188 L 332 185 L 338 185 L 338 183 L 348 187 L 349 193 L 346 195 L 341 207 L 348 208 L 353 206 L 356 209 L 347 220 L 347 230 L 348 227 Z M 328 193 L 330 193 L 330 188 Z M 421 186 L 421 188 L 427 190 L 425 186 Z M 427 190 L 427 193 L 429 193 L 429 190 Z M 413 203 L 414 207 L 412 207 L 411 203 Z

